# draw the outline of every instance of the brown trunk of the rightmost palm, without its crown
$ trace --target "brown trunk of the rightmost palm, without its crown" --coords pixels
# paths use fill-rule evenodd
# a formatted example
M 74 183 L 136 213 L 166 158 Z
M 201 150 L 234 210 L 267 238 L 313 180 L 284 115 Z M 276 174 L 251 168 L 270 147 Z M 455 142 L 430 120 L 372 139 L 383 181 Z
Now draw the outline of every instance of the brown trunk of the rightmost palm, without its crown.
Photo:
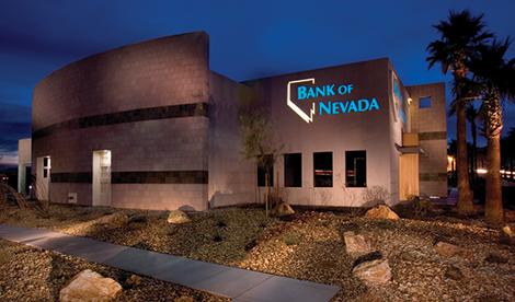
M 499 97 L 484 100 L 487 118 L 487 200 L 484 217 L 488 223 L 499 225 L 504 222 L 501 186 L 501 130 L 503 129 L 502 106 Z

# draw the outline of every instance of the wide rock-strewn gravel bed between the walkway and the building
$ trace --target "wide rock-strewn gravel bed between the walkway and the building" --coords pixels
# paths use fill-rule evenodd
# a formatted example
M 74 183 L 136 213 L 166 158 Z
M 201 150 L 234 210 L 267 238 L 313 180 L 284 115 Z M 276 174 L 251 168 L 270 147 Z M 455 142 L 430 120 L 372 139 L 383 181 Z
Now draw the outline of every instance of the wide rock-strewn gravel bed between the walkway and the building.
M 515 246 L 481 220 L 438 217 L 390 222 L 304 211 L 282 221 L 267 219 L 261 209 L 229 208 L 192 213 L 192 222 L 180 225 L 168 224 L 165 212 L 116 210 L 144 214 L 148 221 L 117 229 L 96 224 L 96 219 L 113 211 L 53 206 L 48 219 L 3 211 L 0 222 L 337 284 L 342 290 L 334 301 L 515 301 Z M 352 275 L 355 259 L 342 241 L 348 230 L 363 234 L 388 258 L 389 283 L 367 287 Z M 438 241 L 464 253 L 439 256 L 434 249 Z

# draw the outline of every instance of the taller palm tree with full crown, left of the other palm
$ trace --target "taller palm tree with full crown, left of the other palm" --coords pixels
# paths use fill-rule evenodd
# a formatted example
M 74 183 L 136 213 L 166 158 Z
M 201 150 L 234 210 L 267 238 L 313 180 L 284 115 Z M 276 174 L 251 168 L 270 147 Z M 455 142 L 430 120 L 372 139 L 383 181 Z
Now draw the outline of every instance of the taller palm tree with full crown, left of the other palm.
M 470 60 L 478 45 L 493 37 L 484 30 L 483 15 L 471 15 L 467 10 L 450 12 L 447 21 L 440 21 L 434 27 L 440 37 L 427 46 L 430 56 L 426 61 L 432 68 L 442 65 L 444 73 L 450 71 L 454 77 L 453 92 L 456 101 L 458 154 L 456 158 L 458 172 L 458 212 L 473 212 L 472 191 L 470 190 L 467 161 L 467 121 L 465 115 L 466 101 L 470 96 L 466 90 L 465 79 L 468 74 L 467 61 Z

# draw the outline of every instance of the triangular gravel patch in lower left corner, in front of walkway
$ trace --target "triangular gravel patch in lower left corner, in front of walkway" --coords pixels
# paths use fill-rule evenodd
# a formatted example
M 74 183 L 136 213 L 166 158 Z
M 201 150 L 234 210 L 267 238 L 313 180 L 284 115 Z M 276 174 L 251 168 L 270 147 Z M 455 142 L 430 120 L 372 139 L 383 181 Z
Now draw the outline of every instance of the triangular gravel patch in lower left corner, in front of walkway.
M 83 269 L 113 278 L 124 288 L 116 301 L 227 301 L 181 286 L 139 276 L 140 283 L 126 282 L 131 274 L 80 258 L 0 240 L 0 301 L 57 301 L 59 291 Z

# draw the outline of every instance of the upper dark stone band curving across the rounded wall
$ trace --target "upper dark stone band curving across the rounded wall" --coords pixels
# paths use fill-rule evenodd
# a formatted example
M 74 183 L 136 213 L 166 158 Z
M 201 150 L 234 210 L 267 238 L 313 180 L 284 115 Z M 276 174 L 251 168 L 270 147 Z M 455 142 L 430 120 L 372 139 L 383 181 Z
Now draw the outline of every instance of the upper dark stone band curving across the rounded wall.
M 122 123 L 135 123 L 176 117 L 206 116 L 207 103 L 181 104 L 140 108 L 118 113 L 84 116 L 57 123 L 32 132 L 32 139 L 46 137 L 62 130 L 75 130 L 89 127 L 106 126 Z

